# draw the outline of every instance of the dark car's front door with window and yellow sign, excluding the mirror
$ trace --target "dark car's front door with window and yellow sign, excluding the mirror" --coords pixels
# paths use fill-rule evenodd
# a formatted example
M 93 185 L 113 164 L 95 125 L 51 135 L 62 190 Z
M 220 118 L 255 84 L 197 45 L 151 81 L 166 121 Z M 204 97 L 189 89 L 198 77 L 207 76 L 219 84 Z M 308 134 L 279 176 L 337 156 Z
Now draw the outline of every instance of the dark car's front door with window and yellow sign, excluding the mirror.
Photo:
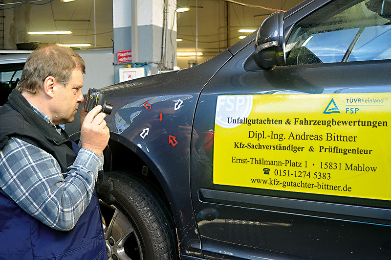
M 190 168 L 205 258 L 389 259 L 389 4 L 308 1 L 285 15 L 285 66 L 257 68 L 251 42 L 203 89 Z

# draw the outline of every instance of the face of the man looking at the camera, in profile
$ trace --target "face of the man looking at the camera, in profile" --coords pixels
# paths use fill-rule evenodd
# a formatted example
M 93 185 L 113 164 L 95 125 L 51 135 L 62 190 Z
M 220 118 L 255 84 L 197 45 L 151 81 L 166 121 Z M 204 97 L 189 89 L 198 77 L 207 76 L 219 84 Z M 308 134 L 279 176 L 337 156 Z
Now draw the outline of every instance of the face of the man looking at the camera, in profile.
M 51 118 L 54 124 L 72 122 L 79 108 L 84 103 L 82 94 L 83 73 L 80 69 L 74 69 L 66 86 L 59 85 L 55 95 L 55 117 Z

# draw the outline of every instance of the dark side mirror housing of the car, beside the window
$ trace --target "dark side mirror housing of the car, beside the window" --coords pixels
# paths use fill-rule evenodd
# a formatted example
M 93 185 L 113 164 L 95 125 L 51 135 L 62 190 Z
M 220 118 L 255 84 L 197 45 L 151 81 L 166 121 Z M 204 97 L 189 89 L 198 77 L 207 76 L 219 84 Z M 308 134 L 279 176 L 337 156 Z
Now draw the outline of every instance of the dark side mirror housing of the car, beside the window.
M 255 38 L 255 60 L 264 70 L 285 65 L 283 12 L 269 15 L 258 28 Z

